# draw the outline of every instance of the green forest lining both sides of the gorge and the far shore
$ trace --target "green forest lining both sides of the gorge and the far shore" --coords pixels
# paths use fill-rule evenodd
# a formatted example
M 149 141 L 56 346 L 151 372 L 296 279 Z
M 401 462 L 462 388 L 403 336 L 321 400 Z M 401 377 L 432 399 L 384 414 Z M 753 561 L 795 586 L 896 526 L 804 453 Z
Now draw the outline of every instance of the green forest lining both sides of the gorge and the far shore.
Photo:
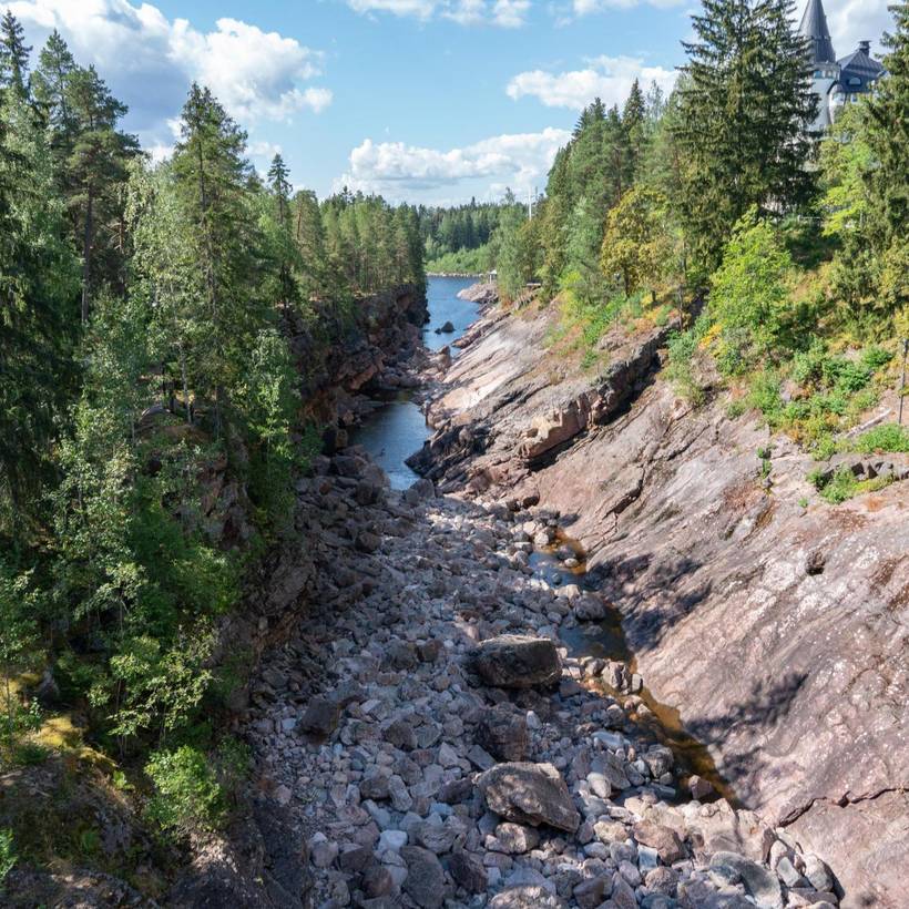
M 909 9 L 893 12 L 887 75 L 817 135 L 788 0 L 705 0 L 675 89 L 592 101 L 532 217 L 511 195 L 319 201 L 280 155 L 257 173 L 200 84 L 154 163 L 102 74 L 57 32 L 32 58 L 7 12 L 0 767 L 44 759 L 40 702 L 64 703 L 136 770 L 162 830 L 222 799 L 244 756 L 212 722 L 231 688 L 213 629 L 293 530 L 320 438 L 287 327 L 337 347 L 365 295 L 422 288 L 425 268 L 496 267 L 507 305 L 560 307 L 552 344 L 584 368 L 613 326 L 676 319 L 667 375 L 693 406 L 724 385 L 736 413 L 835 451 L 909 335 Z M 882 427 L 874 445 L 909 436 Z M 215 472 L 252 505 L 229 545 L 200 507 Z M 818 479 L 830 500 L 856 482 Z

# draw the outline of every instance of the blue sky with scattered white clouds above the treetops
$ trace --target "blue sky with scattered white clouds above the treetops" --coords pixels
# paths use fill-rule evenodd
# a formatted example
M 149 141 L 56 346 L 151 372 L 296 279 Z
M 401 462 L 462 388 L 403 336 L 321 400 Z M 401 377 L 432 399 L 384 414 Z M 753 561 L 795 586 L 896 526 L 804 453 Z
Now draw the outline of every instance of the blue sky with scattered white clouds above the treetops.
M 880 51 L 888 0 L 825 0 L 837 54 Z M 0 0 L 0 8 L 4 4 Z M 457 204 L 545 186 L 594 96 L 672 86 L 692 0 L 13 0 L 34 54 L 58 29 L 157 157 L 193 80 L 297 188 Z M 803 0 L 798 0 L 800 16 Z

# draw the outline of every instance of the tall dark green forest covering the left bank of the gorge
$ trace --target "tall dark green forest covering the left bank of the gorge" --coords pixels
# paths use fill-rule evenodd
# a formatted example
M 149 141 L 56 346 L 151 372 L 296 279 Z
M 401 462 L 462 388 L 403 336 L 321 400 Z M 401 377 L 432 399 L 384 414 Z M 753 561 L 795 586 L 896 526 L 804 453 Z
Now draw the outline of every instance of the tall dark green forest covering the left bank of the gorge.
M 293 361 L 287 327 L 316 339 L 317 360 L 361 296 L 422 288 L 419 215 L 359 194 L 320 203 L 294 191 L 280 155 L 259 176 L 245 132 L 197 84 L 173 154 L 153 163 L 59 33 L 33 72 L 30 51 L 8 11 L 0 768 L 42 755 L 28 673 L 109 754 L 205 750 L 204 715 L 227 685 L 214 622 L 239 602 L 248 560 L 293 529 L 294 476 L 317 441 L 299 388 L 318 364 Z M 218 472 L 248 496 L 241 539 L 203 512 Z M 183 753 L 174 768 L 173 754 L 149 767 L 206 766 Z

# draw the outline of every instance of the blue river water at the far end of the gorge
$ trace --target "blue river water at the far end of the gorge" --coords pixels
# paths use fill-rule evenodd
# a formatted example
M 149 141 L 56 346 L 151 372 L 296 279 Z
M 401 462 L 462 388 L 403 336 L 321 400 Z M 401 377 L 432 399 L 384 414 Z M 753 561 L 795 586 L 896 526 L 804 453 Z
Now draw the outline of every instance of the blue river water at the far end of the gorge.
M 472 278 L 429 278 L 429 323 L 423 329 L 423 340 L 430 350 L 440 350 L 457 340 L 476 320 L 477 304 L 458 299 L 458 293 L 473 283 Z M 447 321 L 455 326 L 455 331 L 437 335 L 436 329 Z M 452 347 L 451 356 L 457 355 L 457 348 Z M 372 413 L 350 433 L 350 441 L 369 452 L 388 474 L 392 489 L 407 489 L 418 477 L 405 460 L 419 451 L 429 435 L 420 408 L 405 391 L 392 401 L 377 402 Z

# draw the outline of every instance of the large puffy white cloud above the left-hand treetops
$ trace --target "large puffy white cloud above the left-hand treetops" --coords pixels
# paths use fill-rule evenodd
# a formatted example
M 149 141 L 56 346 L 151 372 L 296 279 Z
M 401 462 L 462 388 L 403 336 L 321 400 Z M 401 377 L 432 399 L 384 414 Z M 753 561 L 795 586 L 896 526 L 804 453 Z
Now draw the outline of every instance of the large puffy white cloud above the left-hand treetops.
M 130 0 L 14 0 L 10 9 L 37 49 L 57 29 L 75 59 L 94 63 L 130 104 L 130 127 L 159 153 L 172 139 L 168 118 L 190 82 L 202 82 L 244 124 L 288 120 L 331 102 L 328 89 L 305 84 L 321 71 L 321 54 L 293 38 L 237 19 L 202 32 L 168 20 L 150 3 Z

